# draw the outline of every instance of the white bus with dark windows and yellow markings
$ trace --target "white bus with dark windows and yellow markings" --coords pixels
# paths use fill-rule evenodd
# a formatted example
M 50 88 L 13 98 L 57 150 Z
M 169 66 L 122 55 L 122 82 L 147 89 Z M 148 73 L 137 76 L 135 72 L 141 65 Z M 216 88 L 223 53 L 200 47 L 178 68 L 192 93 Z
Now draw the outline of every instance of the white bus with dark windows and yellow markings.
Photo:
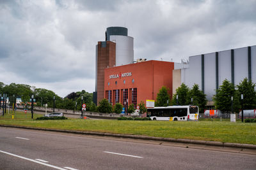
M 167 106 L 147 109 L 151 120 L 198 120 L 198 106 Z

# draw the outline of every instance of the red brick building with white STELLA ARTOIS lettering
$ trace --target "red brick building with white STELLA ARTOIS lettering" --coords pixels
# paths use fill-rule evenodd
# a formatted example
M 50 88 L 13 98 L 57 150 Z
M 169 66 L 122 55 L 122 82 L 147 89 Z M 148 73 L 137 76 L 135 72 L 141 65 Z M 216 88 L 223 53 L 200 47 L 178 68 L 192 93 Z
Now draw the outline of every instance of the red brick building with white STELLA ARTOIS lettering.
M 109 67 L 104 71 L 104 98 L 109 103 L 128 101 L 134 106 L 146 100 L 156 100 L 159 89 L 168 87 L 172 96 L 173 62 L 149 60 L 124 66 Z

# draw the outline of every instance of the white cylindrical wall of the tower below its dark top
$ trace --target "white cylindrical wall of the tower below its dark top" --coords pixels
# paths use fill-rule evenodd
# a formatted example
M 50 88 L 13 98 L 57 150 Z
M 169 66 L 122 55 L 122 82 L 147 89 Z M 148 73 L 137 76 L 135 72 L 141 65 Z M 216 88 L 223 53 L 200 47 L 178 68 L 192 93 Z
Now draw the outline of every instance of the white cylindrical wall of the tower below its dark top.
M 134 60 L 133 38 L 130 36 L 109 36 L 116 43 L 116 66 L 132 64 Z

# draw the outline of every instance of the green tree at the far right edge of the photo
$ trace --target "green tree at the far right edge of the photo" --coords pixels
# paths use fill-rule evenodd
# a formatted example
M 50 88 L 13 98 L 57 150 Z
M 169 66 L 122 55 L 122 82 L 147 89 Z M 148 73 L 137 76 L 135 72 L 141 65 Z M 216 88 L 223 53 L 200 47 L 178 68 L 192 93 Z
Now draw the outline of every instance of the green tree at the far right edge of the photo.
M 256 91 L 255 83 L 252 83 L 252 80 L 248 81 L 247 78 L 244 78 L 239 85 L 237 85 L 238 97 L 241 103 L 241 94 L 243 94 L 243 109 L 252 110 L 256 108 Z

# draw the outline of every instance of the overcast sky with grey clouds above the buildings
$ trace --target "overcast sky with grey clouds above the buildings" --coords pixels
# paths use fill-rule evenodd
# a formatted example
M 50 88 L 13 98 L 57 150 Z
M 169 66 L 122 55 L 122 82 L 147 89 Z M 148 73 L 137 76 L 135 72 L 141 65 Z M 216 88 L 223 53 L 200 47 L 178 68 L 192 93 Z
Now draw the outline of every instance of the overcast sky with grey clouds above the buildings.
M 95 46 L 127 27 L 134 60 L 256 45 L 256 0 L 0 0 L 0 82 L 95 91 Z

